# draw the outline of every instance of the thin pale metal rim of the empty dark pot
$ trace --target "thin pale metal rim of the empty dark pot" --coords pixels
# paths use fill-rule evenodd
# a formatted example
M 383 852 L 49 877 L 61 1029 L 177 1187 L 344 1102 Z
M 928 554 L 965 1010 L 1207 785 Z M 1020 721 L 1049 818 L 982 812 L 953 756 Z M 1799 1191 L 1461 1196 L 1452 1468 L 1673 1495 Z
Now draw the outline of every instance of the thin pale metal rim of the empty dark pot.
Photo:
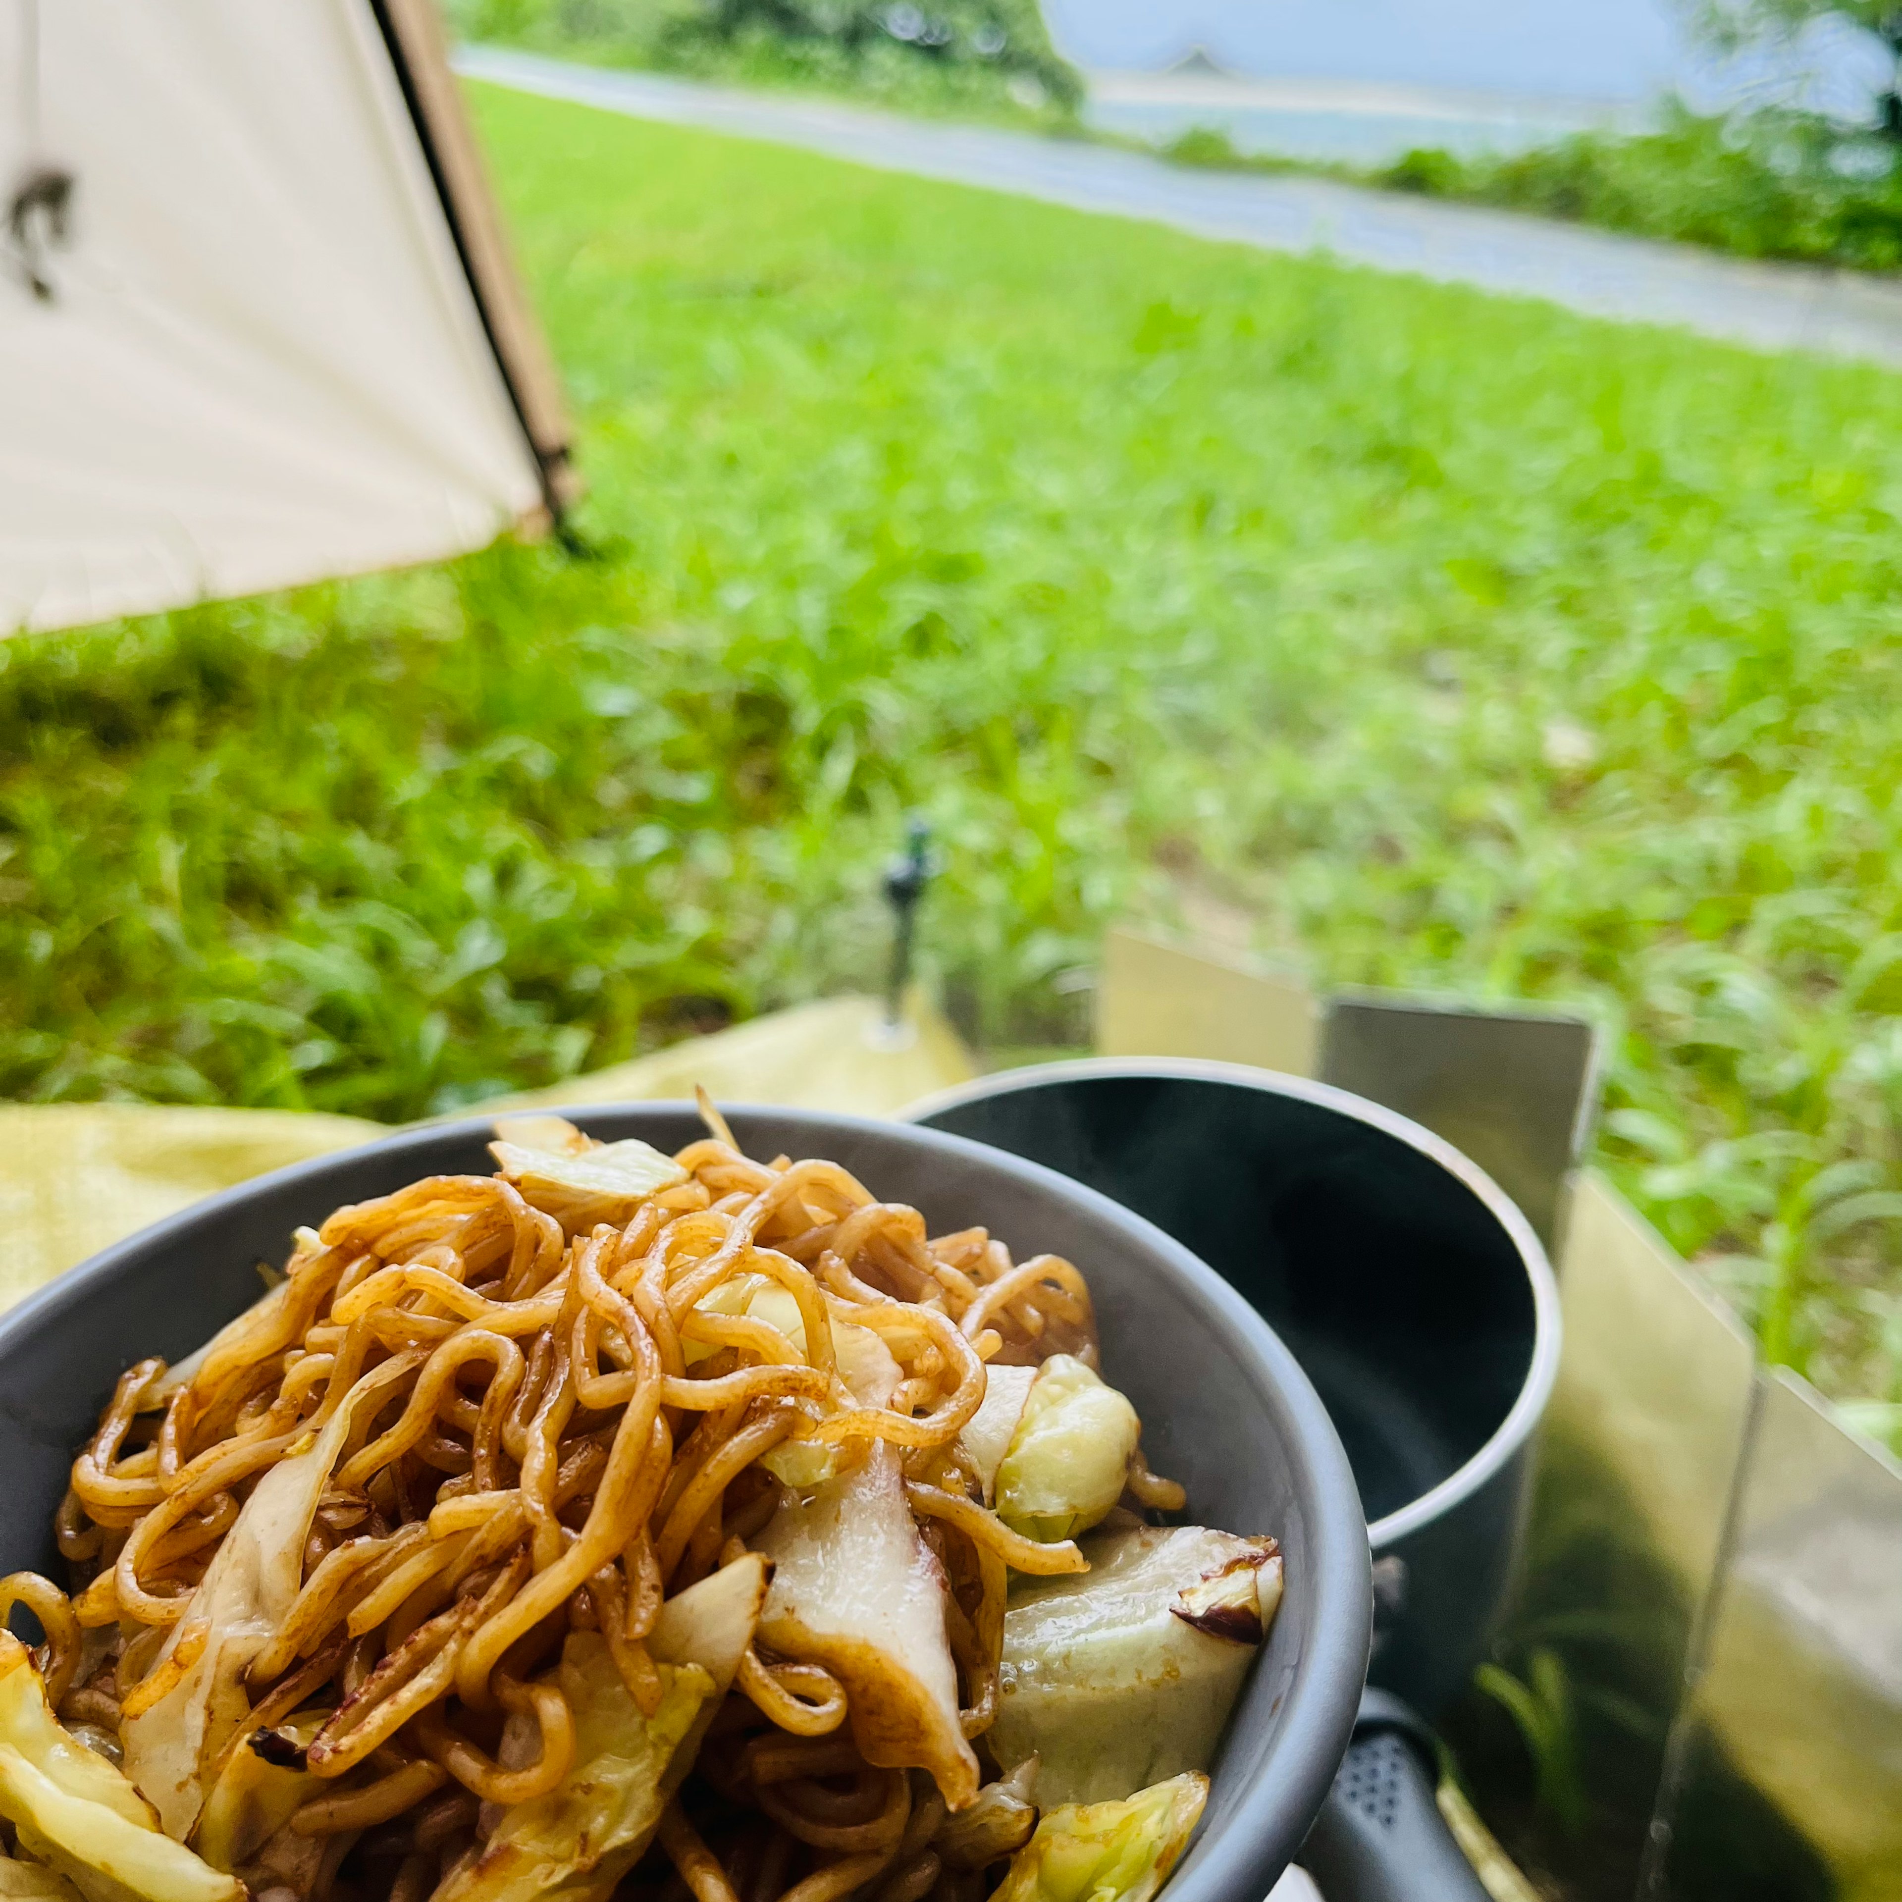
M 1525 1368 L 1525 1379 L 1504 1419 L 1465 1465 L 1455 1466 L 1438 1485 L 1430 1485 L 1396 1512 L 1369 1522 L 1368 1544 L 1375 1552 L 1398 1544 L 1425 1525 L 1432 1525 L 1461 1501 L 1478 1493 L 1518 1457 L 1520 1449 L 1531 1438 L 1533 1428 L 1544 1417 L 1546 1406 L 1552 1400 L 1552 1388 L 1558 1383 L 1560 1352 L 1565 1345 L 1558 1278 L 1546 1257 L 1544 1242 L 1539 1240 L 1518 1202 L 1472 1156 L 1455 1149 L 1444 1135 L 1434 1135 L 1432 1130 L 1411 1116 L 1402 1116 L 1400 1111 L 1388 1109 L 1385 1103 L 1356 1096 L 1352 1090 L 1341 1090 L 1331 1082 L 1316 1082 L 1312 1077 L 1293 1077 L 1288 1071 L 1255 1069 L 1248 1063 L 1223 1063 L 1215 1058 L 1067 1058 L 1058 1063 L 1027 1063 L 1023 1069 L 993 1071 L 989 1077 L 976 1077 L 972 1082 L 953 1084 L 949 1090 L 934 1090 L 917 1103 L 907 1103 L 903 1116 L 907 1122 L 917 1122 L 941 1109 L 983 1103 L 999 1096 L 1019 1096 L 1046 1082 L 1109 1082 L 1118 1077 L 1231 1084 L 1242 1090 L 1257 1090 L 1265 1096 L 1288 1096 L 1301 1103 L 1312 1103 L 1316 1109 L 1331 1109 L 1337 1115 L 1350 1116 L 1354 1122 L 1364 1122 L 1383 1135 L 1392 1135 L 1396 1141 L 1406 1143 L 1430 1162 L 1438 1162 L 1465 1189 L 1470 1189 L 1485 1206 L 1485 1212 L 1506 1231 L 1506 1238 L 1518 1252 L 1520 1263 L 1525 1269 L 1525 1280 L 1533 1291 L 1533 1352 Z

